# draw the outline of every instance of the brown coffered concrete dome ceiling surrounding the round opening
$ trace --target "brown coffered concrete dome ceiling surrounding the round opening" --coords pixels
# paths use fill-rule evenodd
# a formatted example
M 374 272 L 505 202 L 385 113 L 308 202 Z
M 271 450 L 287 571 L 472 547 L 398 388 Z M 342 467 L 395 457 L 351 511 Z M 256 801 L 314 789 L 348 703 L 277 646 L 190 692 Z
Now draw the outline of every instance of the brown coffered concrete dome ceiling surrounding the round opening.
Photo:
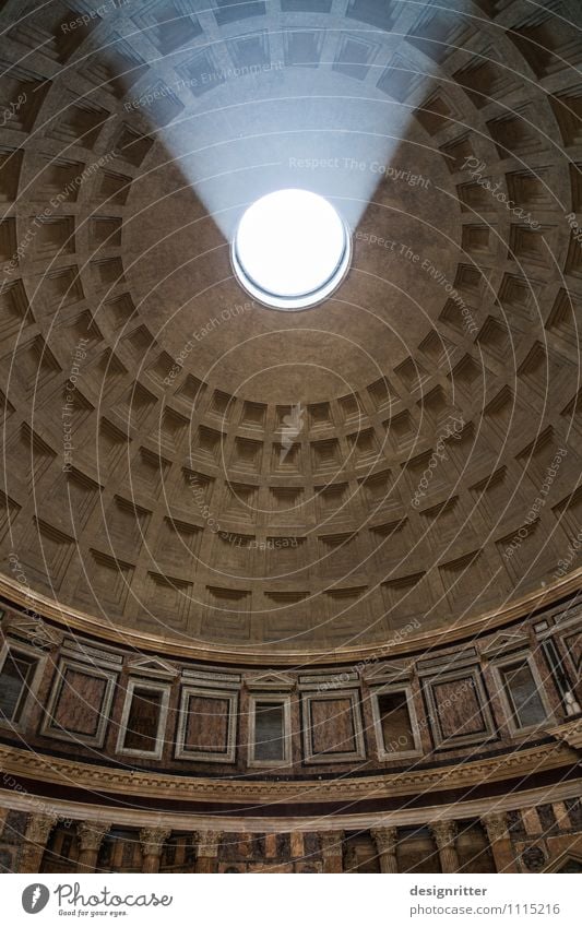
M 4 2 L 5 586 L 278 659 L 573 573 L 581 24 L 577 0 Z M 289 187 L 353 235 L 300 312 L 230 264 Z

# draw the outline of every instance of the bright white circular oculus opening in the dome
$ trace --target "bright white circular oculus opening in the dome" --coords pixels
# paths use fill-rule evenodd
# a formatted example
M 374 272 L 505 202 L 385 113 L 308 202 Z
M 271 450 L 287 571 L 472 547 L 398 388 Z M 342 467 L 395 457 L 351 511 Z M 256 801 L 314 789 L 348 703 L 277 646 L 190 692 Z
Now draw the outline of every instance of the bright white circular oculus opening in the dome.
M 244 214 L 233 242 L 233 265 L 245 289 L 275 309 L 306 309 L 329 296 L 351 258 L 343 219 L 323 197 L 277 190 Z

